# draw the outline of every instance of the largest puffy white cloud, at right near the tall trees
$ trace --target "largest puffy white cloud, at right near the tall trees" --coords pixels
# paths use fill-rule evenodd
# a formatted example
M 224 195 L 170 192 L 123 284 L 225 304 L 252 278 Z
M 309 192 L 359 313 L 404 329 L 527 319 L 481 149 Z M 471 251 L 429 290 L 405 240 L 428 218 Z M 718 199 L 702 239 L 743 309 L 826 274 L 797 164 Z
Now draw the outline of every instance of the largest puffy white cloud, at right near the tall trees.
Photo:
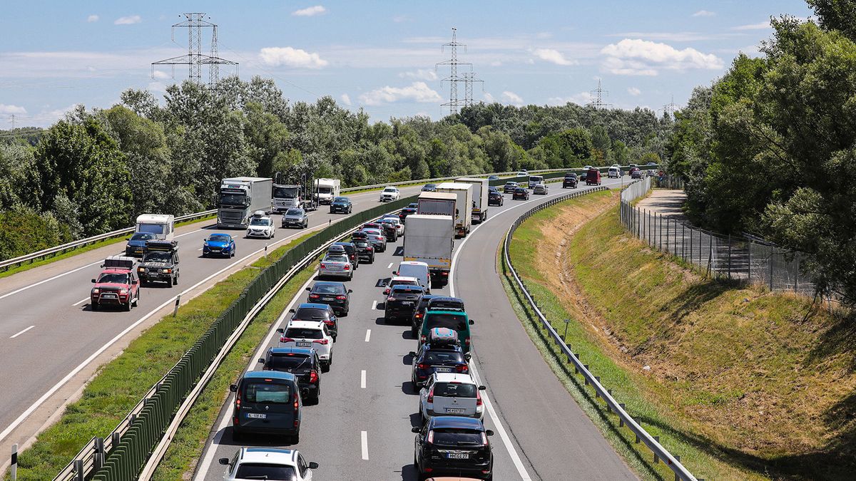
M 603 68 L 618 75 L 657 75 L 659 68 L 686 70 L 722 68 L 722 59 L 713 54 L 704 54 L 687 47 L 677 50 L 666 44 L 641 39 L 623 39 L 601 50 L 606 56 Z

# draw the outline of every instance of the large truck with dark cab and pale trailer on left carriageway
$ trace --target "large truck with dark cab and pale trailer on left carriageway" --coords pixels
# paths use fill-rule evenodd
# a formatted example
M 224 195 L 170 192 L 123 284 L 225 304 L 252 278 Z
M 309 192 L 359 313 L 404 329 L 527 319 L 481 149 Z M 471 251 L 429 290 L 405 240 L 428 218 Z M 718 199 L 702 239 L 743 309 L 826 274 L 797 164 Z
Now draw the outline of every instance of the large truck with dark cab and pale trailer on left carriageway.
M 217 199 L 218 229 L 247 229 L 255 211 L 273 211 L 273 179 L 233 177 L 220 181 Z

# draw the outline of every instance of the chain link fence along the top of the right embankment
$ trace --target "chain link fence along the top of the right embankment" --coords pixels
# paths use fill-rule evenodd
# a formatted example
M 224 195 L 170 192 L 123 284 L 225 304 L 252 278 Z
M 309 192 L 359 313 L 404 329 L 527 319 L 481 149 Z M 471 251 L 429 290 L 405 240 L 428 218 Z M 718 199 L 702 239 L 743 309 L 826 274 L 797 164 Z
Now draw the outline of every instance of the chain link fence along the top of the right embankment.
M 621 192 L 624 228 L 651 248 L 701 267 L 709 276 L 763 284 L 770 290 L 813 295 L 814 284 L 800 273 L 800 252 L 745 236 L 716 234 L 681 219 L 633 205 L 651 190 L 652 178 L 634 182 Z M 663 187 L 680 181 L 657 180 Z

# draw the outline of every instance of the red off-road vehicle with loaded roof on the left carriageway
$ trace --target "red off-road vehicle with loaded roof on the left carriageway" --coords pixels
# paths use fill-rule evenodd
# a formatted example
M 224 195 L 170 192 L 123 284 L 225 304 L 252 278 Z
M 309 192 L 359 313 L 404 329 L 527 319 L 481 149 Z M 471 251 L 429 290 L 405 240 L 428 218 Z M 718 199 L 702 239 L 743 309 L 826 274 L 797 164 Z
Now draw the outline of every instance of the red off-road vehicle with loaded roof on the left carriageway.
M 89 306 L 98 311 L 100 306 L 122 306 L 125 311 L 140 302 L 140 279 L 134 269 L 134 258 L 110 256 L 101 264 L 102 271 L 89 294 Z

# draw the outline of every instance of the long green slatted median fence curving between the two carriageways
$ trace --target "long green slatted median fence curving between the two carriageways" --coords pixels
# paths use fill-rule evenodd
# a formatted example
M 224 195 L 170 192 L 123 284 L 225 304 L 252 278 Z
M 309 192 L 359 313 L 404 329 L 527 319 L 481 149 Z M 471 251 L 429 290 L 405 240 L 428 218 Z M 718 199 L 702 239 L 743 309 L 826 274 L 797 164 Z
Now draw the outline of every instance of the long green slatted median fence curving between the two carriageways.
M 154 394 L 145 401 L 139 414 L 131 419 L 128 430 L 120 441 L 106 454 L 103 466 L 95 472 L 92 479 L 98 481 L 131 481 L 137 477 L 146 460 L 155 448 L 163 431 L 169 425 L 175 410 L 187 397 L 190 389 L 199 380 L 211 360 L 223 347 L 226 340 L 247 316 L 247 312 L 268 292 L 270 288 L 288 273 L 303 258 L 324 243 L 335 239 L 349 229 L 366 223 L 389 211 L 396 211 L 416 201 L 416 196 L 396 200 L 389 204 L 377 205 L 368 211 L 354 213 L 326 229 L 306 238 L 292 247 L 263 270 L 250 282 L 232 304 L 211 324 L 193 347 L 184 354 L 169 371 L 163 382 L 159 383 Z M 74 461 L 73 461 L 74 463 Z M 82 463 L 81 463 L 82 464 Z M 100 464 L 100 463 L 99 463 Z M 79 476 L 82 473 L 79 473 Z M 80 476 L 83 478 L 83 476 Z

